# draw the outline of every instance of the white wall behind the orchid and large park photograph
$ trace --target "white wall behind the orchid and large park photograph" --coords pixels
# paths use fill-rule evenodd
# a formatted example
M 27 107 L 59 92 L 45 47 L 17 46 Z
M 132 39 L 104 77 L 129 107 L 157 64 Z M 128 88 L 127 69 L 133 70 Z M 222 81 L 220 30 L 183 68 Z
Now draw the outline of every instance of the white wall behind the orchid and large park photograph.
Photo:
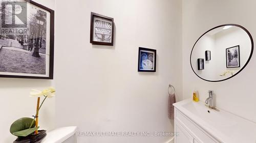
M 54 0 L 35 2 L 55 9 Z M 9 130 L 11 124 L 22 117 L 35 115 L 37 98 L 29 97 L 31 89 L 42 90 L 55 86 L 54 80 L 0 78 L 0 142 L 13 142 L 15 136 Z M 39 112 L 40 129 L 52 130 L 55 125 L 55 98 L 47 99 Z

